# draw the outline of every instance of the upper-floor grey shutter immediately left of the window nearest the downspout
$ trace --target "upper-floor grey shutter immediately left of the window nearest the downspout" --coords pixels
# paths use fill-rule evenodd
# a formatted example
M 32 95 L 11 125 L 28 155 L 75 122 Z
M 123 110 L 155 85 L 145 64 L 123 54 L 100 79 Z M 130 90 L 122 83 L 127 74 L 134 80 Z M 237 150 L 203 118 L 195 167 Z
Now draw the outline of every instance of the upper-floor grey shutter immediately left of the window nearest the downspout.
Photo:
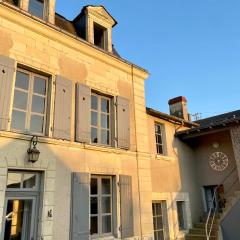
M 76 89 L 76 141 L 90 143 L 91 89 L 78 83 Z

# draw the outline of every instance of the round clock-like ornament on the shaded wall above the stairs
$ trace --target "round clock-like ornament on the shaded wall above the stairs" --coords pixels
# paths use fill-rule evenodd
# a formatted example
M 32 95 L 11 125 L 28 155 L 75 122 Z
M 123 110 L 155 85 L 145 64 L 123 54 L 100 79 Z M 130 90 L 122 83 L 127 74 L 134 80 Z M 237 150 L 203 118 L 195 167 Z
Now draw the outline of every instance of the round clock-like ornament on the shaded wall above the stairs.
M 228 166 L 228 157 L 225 153 L 215 152 L 210 156 L 209 164 L 213 170 L 222 172 Z

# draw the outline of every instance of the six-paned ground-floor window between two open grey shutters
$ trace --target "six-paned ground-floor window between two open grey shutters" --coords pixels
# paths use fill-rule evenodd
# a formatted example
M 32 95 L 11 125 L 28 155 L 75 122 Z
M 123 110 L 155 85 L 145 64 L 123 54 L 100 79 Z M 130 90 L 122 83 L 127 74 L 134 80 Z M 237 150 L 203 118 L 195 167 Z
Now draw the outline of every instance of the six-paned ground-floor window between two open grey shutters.
M 112 234 L 112 178 L 91 177 L 90 233 L 98 238 Z

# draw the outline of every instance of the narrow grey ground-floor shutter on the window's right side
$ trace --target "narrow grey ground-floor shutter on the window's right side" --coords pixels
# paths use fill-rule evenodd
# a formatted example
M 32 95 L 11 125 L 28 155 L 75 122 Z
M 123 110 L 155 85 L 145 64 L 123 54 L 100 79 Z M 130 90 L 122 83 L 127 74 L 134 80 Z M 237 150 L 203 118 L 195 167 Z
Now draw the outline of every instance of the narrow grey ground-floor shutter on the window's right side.
M 120 175 L 121 238 L 133 237 L 133 199 L 131 176 Z

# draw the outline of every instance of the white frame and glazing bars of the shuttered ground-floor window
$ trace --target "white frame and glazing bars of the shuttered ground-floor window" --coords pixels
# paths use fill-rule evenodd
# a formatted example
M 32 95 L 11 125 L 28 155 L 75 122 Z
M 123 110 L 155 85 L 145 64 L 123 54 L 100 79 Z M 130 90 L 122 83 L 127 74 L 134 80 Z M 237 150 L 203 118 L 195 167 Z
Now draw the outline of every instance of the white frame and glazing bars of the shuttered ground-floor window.
M 97 197 L 98 199 L 98 213 L 91 214 L 90 211 L 90 224 L 91 224 L 91 217 L 98 217 L 98 234 L 92 234 L 92 239 L 98 239 L 99 237 L 108 237 L 113 236 L 113 178 L 111 176 L 104 176 L 104 175 L 92 175 L 91 179 L 97 179 L 97 186 L 98 186 L 98 193 L 91 194 L 90 192 L 90 209 L 91 209 L 91 197 Z M 109 179 L 110 181 L 110 194 L 102 194 L 102 179 Z M 91 189 L 91 186 L 90 186 Z M 111 212 L 110 213 L 102 213 L 102 197 L 110 197 L 110 204 L 111 204 Z M 102 233 L 102 217 L 103 216 L 111 216 L 111 232 L 110 233 Z M 90 226 L 91 229 L 91 226 Z

